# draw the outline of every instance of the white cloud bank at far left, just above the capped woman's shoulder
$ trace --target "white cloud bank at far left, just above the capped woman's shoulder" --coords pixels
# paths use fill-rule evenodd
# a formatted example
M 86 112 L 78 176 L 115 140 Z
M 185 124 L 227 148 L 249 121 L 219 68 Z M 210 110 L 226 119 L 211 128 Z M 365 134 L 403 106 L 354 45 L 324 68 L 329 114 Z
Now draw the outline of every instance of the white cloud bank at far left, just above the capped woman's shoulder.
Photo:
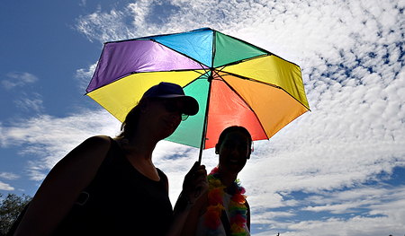
M 115 129 L 113 128 L 115 127 Z M 120 122 L 107 111 L 84 110 L 67 118 L 40 115 L 20 120 L 12 127 L 1 127 L 4 148 L 21 146 L 29 160 L 31 179 L 42 180 L 56 162 L 91 135 L 118 135 Z

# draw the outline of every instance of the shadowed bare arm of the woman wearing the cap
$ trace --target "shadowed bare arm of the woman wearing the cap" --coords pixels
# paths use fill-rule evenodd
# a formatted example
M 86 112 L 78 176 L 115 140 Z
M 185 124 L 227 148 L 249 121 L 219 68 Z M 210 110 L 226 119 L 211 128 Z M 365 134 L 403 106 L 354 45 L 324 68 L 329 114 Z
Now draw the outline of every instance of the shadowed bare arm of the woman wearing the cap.
M 110 148 L 107 136 L 90 137 L 49 171 L 14 235 L 50 235 L 87 187 Z

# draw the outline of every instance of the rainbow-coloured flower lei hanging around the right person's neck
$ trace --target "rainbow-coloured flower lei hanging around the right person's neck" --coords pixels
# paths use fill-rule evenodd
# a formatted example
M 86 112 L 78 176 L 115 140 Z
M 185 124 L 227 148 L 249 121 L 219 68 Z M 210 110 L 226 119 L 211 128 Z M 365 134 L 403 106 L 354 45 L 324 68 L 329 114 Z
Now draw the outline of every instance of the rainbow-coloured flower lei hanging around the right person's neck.
M 208 199 L 210 201 L 210 206 L 207 207 L 207 212 L 205 214 L 204 225 L 206 227 L 207 235 L 218 235 L 218 227 L 220 226 L 220 216 L 222 210 L 225 210 L 223 207 L 222 198 L 225 194 L 224 186 L 220 182 L 218 174 L 218 167 L 211 170 L 210 175 L 208 176 Z M 238 179 L 235 180 L 233 184 L 234 195 L 230 200 L 229 204 L 229 213 L 230 213 L 230 234 L 233 236 L 245 236 L 247 232 L 243 227 L 246 227 L 247 223 L 247 207 L 245 188 L 240 186 Z

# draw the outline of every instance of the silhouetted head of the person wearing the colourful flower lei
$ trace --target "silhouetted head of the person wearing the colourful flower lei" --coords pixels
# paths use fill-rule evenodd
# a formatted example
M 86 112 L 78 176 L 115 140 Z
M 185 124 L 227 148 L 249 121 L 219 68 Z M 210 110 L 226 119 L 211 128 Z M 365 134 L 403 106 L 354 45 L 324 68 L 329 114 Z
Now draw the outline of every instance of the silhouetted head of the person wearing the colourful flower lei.
M 215 153 L 220 154 L 219 169 L 237 174 L 250 158 L 252 137 L 245 127 L 228 127 L 222 131 Z

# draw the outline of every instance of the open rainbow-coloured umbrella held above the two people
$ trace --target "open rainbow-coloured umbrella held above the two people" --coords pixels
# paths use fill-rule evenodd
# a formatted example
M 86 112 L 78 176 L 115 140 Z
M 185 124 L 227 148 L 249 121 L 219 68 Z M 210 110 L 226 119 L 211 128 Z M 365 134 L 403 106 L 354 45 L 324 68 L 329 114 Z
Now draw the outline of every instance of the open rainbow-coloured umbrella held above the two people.
M 226 127 L 269 139 L 310 109 L 299 66 L 209 28 L 105 43 L 86 94 L 122 122 L 160 82 L 181 85 L 200 104 L 166 138 L 200 147 L 199 161 Z

